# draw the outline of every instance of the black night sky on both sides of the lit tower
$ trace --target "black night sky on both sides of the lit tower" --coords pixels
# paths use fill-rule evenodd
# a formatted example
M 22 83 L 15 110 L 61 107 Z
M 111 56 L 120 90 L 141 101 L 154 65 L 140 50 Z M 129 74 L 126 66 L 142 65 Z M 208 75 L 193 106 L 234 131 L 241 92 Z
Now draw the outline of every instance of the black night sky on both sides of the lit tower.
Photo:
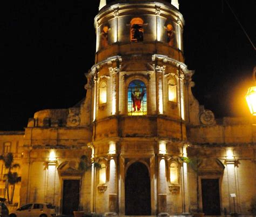
M 251 40 L 255 0 L 227 0 Z M 85 97 L 94 63 L 93 18 L 99 1 L 5 1 L 0 21 L 0 130 L 23 130 L 33 113 L 68 108 Z M 244 116 L 255 50 L 221 0 L 180 0 L 185 18 L 184 53 L 195 70 L 193 93 L 215 117 Z

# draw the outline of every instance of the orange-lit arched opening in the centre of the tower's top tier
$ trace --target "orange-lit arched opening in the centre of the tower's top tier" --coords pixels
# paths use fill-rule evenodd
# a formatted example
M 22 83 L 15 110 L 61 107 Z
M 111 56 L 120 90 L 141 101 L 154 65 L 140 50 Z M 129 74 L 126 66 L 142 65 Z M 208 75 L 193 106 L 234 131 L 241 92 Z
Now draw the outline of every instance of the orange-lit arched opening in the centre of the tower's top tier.
M 143 19 L 133 18 L 131 20 L 131 42 L 143 42 Z

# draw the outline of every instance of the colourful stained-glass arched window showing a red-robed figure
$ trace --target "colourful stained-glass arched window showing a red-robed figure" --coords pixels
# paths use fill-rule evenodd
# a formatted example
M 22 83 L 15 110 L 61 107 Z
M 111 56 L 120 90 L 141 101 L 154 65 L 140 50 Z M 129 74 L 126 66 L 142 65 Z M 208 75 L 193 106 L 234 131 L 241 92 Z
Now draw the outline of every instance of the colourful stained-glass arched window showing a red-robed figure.
M 146 86 L 141 80 L 133 80 L 128 87 L 128 115 L 147 114 Z

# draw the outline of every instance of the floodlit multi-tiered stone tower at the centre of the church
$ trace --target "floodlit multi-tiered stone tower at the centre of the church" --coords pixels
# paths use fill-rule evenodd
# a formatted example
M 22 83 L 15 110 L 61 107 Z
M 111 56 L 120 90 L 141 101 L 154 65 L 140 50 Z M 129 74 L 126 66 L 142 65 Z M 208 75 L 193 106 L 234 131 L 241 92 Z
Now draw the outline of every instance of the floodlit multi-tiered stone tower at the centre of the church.
M 186 122 L 191 77 L 178 1 L 100 1 L 95 65 L 87 73 L 91 211 L 188 212 Z

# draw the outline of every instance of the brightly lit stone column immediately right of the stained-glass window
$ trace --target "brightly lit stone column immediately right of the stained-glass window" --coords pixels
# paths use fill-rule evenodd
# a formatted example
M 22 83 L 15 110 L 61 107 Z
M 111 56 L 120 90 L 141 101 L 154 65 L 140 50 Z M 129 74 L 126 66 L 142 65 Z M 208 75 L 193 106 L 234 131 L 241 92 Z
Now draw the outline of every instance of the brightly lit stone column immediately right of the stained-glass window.
M 164 98 L 163 98 L 163 74 L 164 66 L 156 66 L 156 85 L 157 85 L 157 111 L 158 114 L 164 113 Z

